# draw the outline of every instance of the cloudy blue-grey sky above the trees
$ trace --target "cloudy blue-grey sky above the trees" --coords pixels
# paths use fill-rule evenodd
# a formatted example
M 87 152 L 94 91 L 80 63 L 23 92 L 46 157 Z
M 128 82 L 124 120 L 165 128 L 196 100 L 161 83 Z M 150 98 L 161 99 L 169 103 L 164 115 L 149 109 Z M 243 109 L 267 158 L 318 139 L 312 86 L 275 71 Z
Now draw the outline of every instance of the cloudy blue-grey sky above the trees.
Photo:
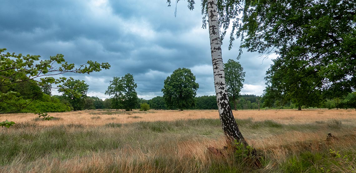
M 162 96 L 164 80 L 177 68 L 192 70 L 197 96 L 215 95 L 209 31 L 201 27 L 200 1 L 196 3 L 190 11 L 186 1 L 179 1 L 174 17 L 175 4 L 168 7 L 166 0 L 2 0 L 0 47 L 42 59 L 61 53 L 76 65 L 108 62 L 109 70 L 65 75 L 85 80 L 87 95 L 101 99 L 110 98 L 104 94 L 110 80 L 127 73 L 137 83 L 139 98 Z M 228 42 L 223 41 L 224 62 L 239 54 L 239 42 L 230 51 Z M 237 60 L 246 72 L 241 94 L 263 93 L 273 57 L 242 53 Z

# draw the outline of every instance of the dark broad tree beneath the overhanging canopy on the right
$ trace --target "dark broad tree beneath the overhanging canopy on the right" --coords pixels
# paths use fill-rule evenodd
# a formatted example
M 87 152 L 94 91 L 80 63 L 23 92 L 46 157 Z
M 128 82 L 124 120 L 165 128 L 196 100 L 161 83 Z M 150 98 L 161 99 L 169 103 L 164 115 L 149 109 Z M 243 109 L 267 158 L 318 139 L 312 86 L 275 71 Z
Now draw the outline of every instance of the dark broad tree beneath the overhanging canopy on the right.
M 275 100 L 280 100 L 282 105 L 292 101 L 298 110 L 302 110 L 302 106 L 317 107 L 321 104 L 324 79 L 316 67 L 298 59 L 277 58 L 273 62 L 265 77 L 267 106 L 272 106 Z

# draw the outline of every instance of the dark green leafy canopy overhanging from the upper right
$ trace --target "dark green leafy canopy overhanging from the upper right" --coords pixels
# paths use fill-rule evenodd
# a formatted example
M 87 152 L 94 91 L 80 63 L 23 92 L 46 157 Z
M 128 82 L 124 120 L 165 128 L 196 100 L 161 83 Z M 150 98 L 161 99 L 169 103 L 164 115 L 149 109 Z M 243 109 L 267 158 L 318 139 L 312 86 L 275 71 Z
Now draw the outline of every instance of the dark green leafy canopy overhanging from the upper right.
M 188 4 L 192 10 L 194 1 Z M 286 64 L 306 61 L 316 69 L 323 92 L 356 91 L 356 1 L 217 0 L 216 4 L 221 39 L 230 34 L 229 48 L 241 39 L 239 56 L 246 48 L 264 58 L 276 53 L 278 61 Z M 208 0 L 201 1 L 204 26 L 207 5 Z M 292 85 L 302 80 L 303 76 Z

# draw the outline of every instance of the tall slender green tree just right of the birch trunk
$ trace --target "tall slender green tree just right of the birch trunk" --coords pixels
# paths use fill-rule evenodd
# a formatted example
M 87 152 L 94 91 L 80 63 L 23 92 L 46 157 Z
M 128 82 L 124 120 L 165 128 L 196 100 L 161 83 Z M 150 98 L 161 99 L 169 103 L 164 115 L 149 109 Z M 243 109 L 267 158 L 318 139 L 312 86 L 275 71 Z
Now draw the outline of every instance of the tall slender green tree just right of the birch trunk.
M 226 89 L 230 98 L 234 101 L 234 109 L 236 110 L 236 99 L 239 97 L 241 88 L 245 81 L 244 68 L 239 62 L 229 59 L 224 64 Z

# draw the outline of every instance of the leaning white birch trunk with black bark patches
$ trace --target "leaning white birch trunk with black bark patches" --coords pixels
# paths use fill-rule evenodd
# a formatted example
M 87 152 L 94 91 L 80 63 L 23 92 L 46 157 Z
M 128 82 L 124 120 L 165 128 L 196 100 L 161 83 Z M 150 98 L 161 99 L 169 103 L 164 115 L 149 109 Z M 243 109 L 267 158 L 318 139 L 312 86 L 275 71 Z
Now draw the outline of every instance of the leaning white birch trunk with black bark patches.
M 225 84 L 225 71 L 223 58 L 221 57 L 221 40 L 219 35 L 218 8 L 216 0 L 208 1 L 208 24 L 210 34 L 211 60 L 213 62 L 214 84 L 216 101 L 218 102 L 221 126 L 227 140 L 236 139 L 247 146 L 247 142 L 237 127 L 234 115 L 229 104 Z

